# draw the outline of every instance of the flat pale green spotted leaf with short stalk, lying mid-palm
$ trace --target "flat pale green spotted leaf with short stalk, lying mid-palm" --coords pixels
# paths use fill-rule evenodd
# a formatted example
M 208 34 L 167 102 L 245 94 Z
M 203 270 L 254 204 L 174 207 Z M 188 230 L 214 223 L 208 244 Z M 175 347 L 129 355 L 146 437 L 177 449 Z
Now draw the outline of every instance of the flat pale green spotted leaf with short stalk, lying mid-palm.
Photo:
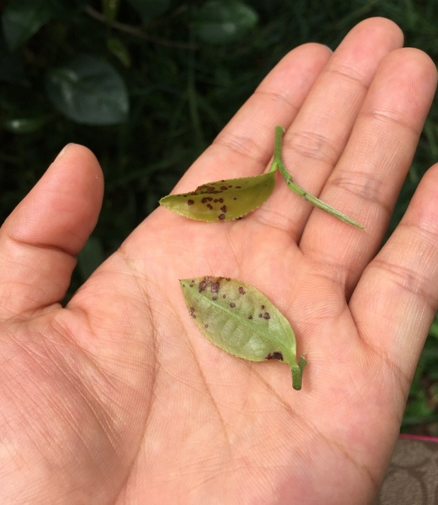
M 179 281 L 189 314 L 213 344 L 251 361 L 289 363 L 294 389 L 301 389 L 307 361 L 296 361 L 294 331 L 285 316 L 255 287 L 224 277 Z

